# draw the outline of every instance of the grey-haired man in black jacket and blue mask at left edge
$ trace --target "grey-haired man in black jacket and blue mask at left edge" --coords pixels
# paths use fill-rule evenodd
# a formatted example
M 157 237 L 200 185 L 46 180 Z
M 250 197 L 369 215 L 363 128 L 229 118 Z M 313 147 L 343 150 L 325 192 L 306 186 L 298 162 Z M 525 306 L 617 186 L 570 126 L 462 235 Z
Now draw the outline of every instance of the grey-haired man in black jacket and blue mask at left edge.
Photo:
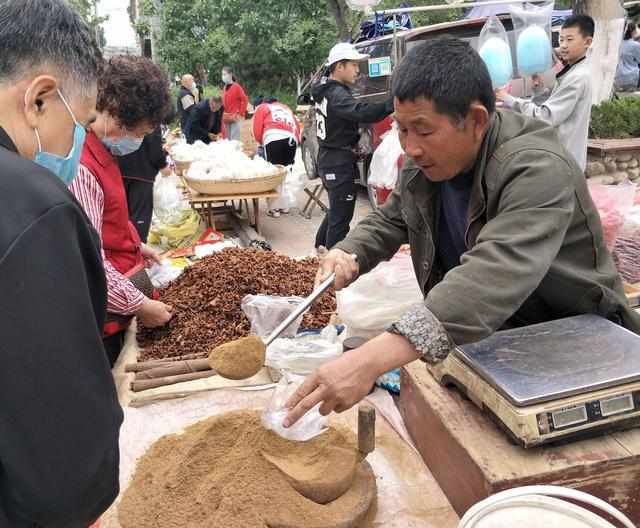
M 0 526 L 87 528 L 118 495 L 100 237 L 67 184 L 101 55 L 63 0 L 0 0 Z

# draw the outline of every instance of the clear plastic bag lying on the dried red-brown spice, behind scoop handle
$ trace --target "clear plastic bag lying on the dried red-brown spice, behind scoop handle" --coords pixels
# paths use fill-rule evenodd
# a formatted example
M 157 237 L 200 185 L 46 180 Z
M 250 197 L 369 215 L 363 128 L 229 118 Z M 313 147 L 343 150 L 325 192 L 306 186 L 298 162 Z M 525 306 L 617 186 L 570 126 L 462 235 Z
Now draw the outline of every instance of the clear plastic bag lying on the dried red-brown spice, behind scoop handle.
M 259 337 L 267 337 L 302 301 L 304 301 L 302 297 L 245 295 L 240 307 L 251 323 L 251 333 Z M 291 323 L 280 337 L 295 337 L 303 316 L 304 313 Z

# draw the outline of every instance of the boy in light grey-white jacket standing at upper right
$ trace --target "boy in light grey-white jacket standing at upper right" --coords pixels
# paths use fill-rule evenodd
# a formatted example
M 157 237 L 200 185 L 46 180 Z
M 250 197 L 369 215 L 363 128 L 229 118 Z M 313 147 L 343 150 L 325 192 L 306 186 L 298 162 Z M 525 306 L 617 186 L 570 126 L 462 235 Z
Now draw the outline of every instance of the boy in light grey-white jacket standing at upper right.
M 556 128 L 560 141 L 584 170 L 587 165 L 587 138 L 591 118 L 591 77 L 587 51 L 593 42 L 594 22 L 590 16 L 567 18 L 560 30 L 560 57 L 566 66 L 556 76 L 556 84 L 543 104 L 496 91 L 507 108 L 541 119 Z

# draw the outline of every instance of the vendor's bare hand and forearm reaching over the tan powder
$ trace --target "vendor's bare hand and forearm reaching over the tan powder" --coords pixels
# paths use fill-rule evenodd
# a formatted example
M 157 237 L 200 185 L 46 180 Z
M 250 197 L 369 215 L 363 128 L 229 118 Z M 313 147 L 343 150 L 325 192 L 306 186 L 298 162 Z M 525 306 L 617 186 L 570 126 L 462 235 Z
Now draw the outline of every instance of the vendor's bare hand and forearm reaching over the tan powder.
M 378 377 L 419 357 L 404 337 L 388 332 L 379 335 L 311 374 L 285 404 L 289 413 L 284 426 L 291 427 L 320 402 L 320 414 L 325 416 L 350 409 L 369 394 Z

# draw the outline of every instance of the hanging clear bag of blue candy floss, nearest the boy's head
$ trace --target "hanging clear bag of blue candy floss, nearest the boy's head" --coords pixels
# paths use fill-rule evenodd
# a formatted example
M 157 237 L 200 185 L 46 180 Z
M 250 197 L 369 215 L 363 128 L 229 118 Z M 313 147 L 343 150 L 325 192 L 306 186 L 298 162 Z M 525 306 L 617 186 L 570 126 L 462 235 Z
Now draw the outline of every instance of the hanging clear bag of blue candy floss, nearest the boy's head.
M 551 16 L 553 2 L 543 5 L 509 4 L 516 32 L 516 60 L 523 77 L 544 73 L 553 66 Z

